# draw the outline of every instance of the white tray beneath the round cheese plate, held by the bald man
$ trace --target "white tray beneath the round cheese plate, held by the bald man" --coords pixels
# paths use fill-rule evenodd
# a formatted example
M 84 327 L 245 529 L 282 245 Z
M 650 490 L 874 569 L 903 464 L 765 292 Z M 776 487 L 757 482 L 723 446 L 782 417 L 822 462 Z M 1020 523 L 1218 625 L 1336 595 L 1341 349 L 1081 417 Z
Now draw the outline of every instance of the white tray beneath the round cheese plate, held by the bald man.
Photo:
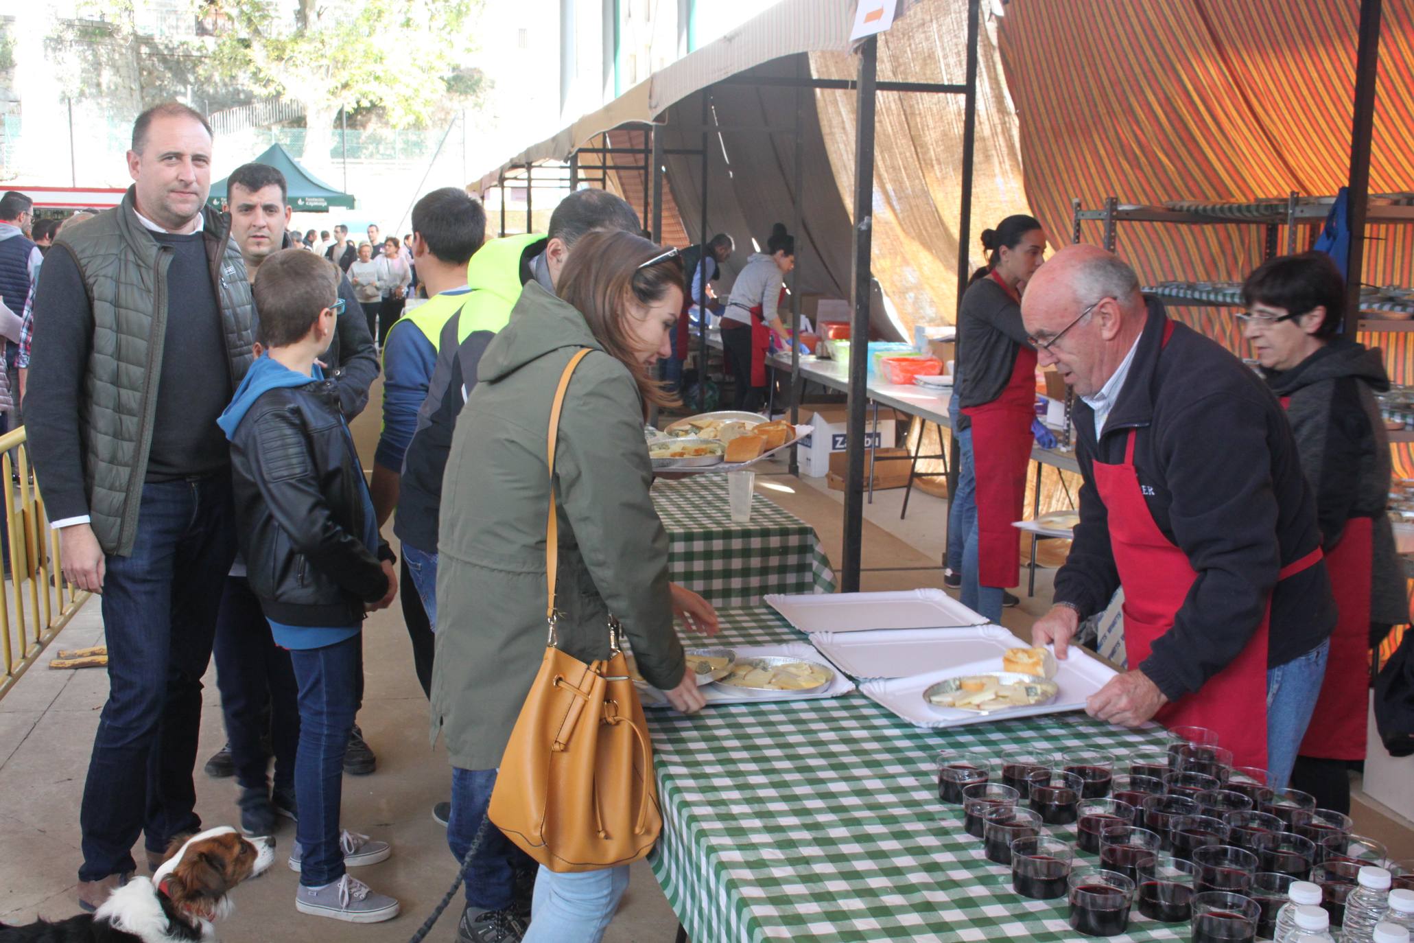
M 995 672 L 997 666 L 994 662 L 959 664 L 942 672 L 929 672 L 928 674 L 916 674 L 913 677 L 865 681 L 860 684 L 860 691 L 913 727 L 945 730 L 949 727 L 966 727 L 969 724 L 1015 720 L 1018 717 L 1085 710 L 1085 698 L 1104 687 L 1106 681 L 1116 674 L 1114 669 L 1085 655 L 1077 648 L 1072 648 L 1069 657 L 1065 662 L 1058 662 L 1058 664 L 1060 670 L 1056 673 L 1055 681 L 1060 686 L 1060 693 L 1055 701 L 993 714 L 974 714 L 973 711 L 962 711 L 952 707 L 933 707 L 923 700 L 923 691 L 929 686 L 954 674 Z

